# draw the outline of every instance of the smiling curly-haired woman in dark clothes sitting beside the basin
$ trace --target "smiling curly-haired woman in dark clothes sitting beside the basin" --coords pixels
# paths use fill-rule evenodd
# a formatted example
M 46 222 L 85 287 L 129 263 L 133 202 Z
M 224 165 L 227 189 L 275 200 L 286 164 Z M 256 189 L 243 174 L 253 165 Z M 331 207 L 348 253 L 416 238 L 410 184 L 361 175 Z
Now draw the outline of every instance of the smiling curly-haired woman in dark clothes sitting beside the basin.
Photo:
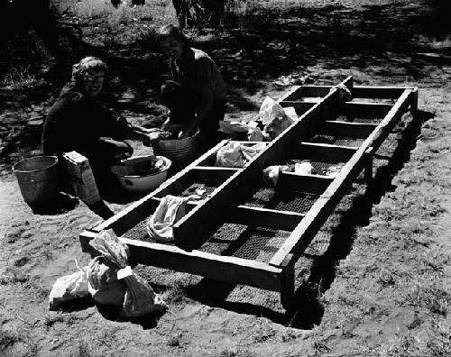
M 42 133 L 44 154 L 61 157 L 64 152 L 78 151 L 89 160 L 100 186 L 110 178 L 111 165 L 132 154 L 125 139 L 150 144 L 142 128 L 131 126 L 123 117 L 113 117 L 97 100 L 107 75 L 106 63 L 96 57 L 75 64 L 72 80 L 51 107 Z

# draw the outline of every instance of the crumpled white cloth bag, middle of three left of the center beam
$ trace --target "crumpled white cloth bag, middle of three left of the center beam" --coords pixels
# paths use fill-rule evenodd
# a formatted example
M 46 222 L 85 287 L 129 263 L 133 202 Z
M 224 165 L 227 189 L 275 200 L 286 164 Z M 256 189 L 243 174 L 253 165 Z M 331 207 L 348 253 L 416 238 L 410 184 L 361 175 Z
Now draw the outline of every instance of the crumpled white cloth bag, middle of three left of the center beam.
M 266 145 L 263 143 L 249 146 L 240 142 L 227 142 L 216 152 L 215 166 L 242 168 L 264 148 Z

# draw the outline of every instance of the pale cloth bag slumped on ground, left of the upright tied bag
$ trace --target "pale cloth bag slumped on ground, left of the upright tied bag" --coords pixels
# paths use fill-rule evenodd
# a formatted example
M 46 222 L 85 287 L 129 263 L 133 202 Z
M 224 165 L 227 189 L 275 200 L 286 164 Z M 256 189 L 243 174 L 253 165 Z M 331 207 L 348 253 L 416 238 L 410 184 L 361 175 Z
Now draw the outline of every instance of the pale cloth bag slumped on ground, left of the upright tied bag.
M 55 281 L 49 295 L 49 310 L 58 310 L 63 303 L 84 298 L 89 294 L 87 268 L 79 268 L 78 264 L 77 268 L 77 272 Z

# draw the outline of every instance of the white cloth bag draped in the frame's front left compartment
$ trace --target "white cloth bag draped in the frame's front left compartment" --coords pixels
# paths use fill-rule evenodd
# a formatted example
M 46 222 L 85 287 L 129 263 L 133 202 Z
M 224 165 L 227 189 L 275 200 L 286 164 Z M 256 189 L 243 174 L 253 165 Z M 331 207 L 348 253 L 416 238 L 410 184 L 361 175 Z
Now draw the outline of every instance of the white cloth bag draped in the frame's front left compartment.
M 174 241 L 172 226 L 185 215 L 185 206 L 191 197 L 165 196 L 155 213 L 147 221 L 147 233 L 157 242 Z

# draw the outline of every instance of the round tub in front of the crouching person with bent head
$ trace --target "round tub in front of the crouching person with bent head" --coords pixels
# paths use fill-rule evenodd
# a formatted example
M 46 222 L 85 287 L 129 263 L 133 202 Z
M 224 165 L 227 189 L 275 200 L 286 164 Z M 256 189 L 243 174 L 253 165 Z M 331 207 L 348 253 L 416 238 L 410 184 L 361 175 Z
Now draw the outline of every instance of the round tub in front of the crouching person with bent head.
M 174 169 L 182 169 L 198 157 L 199 133 L 178 140 L 152 142 L 152 149 L 154 155 L 171 160 Z

